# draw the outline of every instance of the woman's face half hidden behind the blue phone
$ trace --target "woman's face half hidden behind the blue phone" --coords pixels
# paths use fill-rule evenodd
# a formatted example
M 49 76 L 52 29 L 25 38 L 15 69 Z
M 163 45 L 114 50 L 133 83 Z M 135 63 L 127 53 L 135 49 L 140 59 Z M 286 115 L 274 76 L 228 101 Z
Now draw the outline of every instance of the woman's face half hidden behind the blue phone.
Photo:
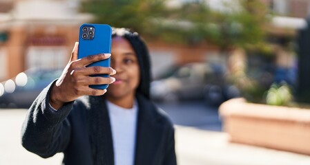
M 134 97 L 139 85 L 139 63 L 133 47 L 121 36 L 112 39 L 111 67 L 116 70 L 115 83 L 109 85 L 107 96 L 112 99 Z

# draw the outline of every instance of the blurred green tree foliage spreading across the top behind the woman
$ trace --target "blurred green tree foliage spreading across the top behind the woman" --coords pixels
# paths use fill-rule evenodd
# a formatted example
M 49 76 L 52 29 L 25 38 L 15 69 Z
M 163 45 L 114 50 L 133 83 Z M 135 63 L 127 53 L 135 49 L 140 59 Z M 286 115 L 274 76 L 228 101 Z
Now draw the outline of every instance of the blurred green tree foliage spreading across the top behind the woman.
M 204 1 L 167 8 L 165 0 L 89 0 L 81 10 L 97 17 L 97 23 L 132 28 L 146 38 L 171 43 L 213 43 L 249 47 L 262 43 L 266 8 L 260 0 L 234 0 L 229 11 L 209 8 Z M 253 46 L 252 46 L 253 47 Z

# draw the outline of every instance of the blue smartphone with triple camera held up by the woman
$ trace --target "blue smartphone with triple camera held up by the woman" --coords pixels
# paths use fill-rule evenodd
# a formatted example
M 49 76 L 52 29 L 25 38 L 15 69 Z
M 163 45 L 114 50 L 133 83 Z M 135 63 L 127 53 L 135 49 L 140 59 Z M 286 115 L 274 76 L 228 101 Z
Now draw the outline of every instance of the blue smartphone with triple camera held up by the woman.
M 79 28 L 79 54 L 78 58 L 111 52 L 112 28 L 106 24 L 84 23 Z M 110 67 L 110 58 L 91 63 L 86 67 L 101 66 Z M 96 74 L 92 76 L 108 77 L 109 75 Z M 95 89 L 106 89 L 108 85 L 90 85 Z

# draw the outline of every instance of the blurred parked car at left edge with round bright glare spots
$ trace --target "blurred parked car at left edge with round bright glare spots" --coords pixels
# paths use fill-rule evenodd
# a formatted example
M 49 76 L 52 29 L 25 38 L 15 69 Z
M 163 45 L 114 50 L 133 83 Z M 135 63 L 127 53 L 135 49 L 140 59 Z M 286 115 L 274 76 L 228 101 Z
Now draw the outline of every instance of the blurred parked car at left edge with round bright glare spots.
M 62 69 L 29 69 L 0 83 L 0 108 L 29 108 Z

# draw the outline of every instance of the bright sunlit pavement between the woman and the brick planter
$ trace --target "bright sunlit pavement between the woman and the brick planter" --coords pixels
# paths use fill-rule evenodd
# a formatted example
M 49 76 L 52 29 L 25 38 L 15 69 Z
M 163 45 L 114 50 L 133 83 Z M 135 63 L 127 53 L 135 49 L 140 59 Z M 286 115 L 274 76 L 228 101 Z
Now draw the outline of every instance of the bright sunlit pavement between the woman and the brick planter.
M 309 165 L 310 156 L 233 144 L 226 133 L 176 127 L 179 165 Z

